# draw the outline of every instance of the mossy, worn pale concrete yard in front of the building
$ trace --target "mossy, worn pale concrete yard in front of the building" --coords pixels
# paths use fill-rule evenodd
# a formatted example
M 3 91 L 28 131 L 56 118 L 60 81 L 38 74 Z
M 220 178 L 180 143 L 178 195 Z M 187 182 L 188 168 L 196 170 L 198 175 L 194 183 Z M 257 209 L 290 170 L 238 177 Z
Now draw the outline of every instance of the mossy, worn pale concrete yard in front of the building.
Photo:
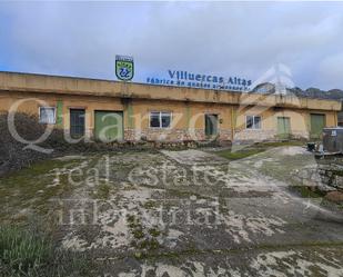
M 2 222 L 91 256 L 91 276 L 343 276 L 343 211 L 290 189 L 302 147 L 65 156 L 0 180 Z

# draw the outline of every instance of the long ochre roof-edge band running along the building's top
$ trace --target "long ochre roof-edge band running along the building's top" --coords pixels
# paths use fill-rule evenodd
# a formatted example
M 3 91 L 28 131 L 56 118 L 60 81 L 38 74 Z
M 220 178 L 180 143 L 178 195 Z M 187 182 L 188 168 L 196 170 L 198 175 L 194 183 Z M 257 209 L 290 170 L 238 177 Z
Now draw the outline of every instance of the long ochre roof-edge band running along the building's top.
M 11 71 L 0 71 L 0 90 L 232 103 L 245 106 L 289 107 L 335 111 L 339 111 L 342 108 L 341 101 L 337 100 L 313 99 L 296 97 L 294 95 L 265 95 L 258 92 L 123 82 L 118 80 Z

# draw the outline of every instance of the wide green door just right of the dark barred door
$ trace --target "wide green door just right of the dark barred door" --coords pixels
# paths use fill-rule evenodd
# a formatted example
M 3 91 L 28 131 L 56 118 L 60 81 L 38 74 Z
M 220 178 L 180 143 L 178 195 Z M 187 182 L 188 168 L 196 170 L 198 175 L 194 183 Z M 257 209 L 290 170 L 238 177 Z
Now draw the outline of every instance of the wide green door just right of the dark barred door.
M 95 111 L 94 136 L 102 142 L 123 140 L 123 113 L 121 111 Z

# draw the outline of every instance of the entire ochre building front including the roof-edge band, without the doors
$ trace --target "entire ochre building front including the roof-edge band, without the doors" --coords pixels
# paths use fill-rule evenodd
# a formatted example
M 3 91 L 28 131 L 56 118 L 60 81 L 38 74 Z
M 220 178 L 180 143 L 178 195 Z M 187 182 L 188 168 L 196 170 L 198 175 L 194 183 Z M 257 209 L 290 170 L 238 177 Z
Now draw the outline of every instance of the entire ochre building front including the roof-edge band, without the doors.
M 70 130 L 70 110 L 84 110 L 89 138 L 94 136 L 95 111 L 122 111 L 124 140 L 168 141 L 209 139 L 205 115 L 215 119 L 213 135 L 220 140 L 275 139 L 278 118 L 287 118 L 293 137 L 309 138 L 311 115 L 322 115 L 325 127 L 335 127 L 341 110 L 339 101 L 293 96 L 0 72 L 0 111 L 16 106 L 18 111 L 37 116 L 40 107 L 58 107 L 56 127 L 65 131 Z M 169 115 L 171 123 L 152 127 L 153 112 Z M 251 119 L 256 121 L 254 128 L 249 128 Z

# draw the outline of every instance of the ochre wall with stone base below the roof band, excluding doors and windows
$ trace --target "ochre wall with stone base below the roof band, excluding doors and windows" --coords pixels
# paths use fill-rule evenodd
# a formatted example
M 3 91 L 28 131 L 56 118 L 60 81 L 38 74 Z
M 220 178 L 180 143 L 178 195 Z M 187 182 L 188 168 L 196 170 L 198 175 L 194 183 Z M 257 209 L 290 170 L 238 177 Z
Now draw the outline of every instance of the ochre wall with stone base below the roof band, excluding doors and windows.
M 275 108 L 271 106 L 229 105 L 212 102 L 172 101 L 157 99 L 113 98 L 105 96 L 57 95 L 42 92 L 10 91 L 0 92 L 0 111 L 8 111 L 18 100 L 24 100 L 18 111 L 38 116 L 40 103 L 34 99 L 56 107 L 62 103 L 62 118 L 57 127 L 69 130 L 70 108 L 85 109 L 85 132 L 92 137 L 94 129 L 94 111 L 123 111 L 124 139 L 127 140 L 204 140 L 204 115 L 215 113 L 219 117 L 220 140 L 269 140 L 274 139 L 278 131 L 278 117 L 290 117 L 291 131 L 295 137 L 309 138 L 310 115 L 325 115 L 326 127 L 337 125 L 336 111 Z M 149 126 L 151 111 L 172 112 L 172 127 L 155 129 Z M 259 130 L 245 128 L 246 116 L 261 116 L 262 126 Z

